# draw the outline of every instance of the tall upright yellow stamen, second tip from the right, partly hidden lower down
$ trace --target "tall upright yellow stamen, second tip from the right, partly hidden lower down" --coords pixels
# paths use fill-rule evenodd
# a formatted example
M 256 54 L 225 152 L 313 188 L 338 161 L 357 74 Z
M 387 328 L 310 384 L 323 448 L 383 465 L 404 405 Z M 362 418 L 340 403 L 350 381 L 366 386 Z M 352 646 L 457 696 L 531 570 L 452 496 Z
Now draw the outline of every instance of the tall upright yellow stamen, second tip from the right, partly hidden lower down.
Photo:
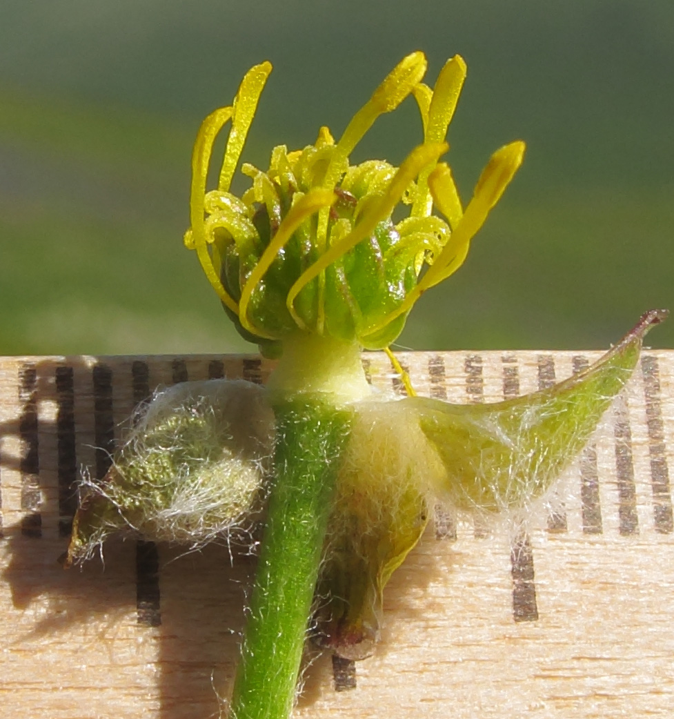
M 424 127 L 424 142 L 444 142 L 465 79 L 466 63 L 463 62 L 461 55 L 455 55 L 451 60 L 447 60 L 443 69 L 440 70 L 430 100 L 428 120 Z M 420 173 L 419 180 L 417 180 L 417 197 L 412 206 L 413 217 L 428 217 L 433 209 L 433 202 L 428 191 L 428 175 L 431 169 L 428 168 Z

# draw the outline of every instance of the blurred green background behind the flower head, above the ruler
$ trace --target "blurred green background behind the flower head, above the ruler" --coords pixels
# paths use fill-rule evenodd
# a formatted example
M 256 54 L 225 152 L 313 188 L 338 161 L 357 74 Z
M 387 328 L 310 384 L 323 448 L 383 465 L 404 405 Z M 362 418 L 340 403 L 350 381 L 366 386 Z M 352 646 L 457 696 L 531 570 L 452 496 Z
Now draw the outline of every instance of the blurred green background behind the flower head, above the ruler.
M 606 347 L 674 309 L 671 0 L 3 0 L 0 354 L 254 349 L 182 246 L 198 124 L 272 60 L 244 151 L 266 166 L 339 134 L 415 49 L 430 83 L 468 63 L 448 137 L 464 201 L 493 150 L 528 150 L 400 346 Z M 408 100 L 354 160 L 420 137 Z

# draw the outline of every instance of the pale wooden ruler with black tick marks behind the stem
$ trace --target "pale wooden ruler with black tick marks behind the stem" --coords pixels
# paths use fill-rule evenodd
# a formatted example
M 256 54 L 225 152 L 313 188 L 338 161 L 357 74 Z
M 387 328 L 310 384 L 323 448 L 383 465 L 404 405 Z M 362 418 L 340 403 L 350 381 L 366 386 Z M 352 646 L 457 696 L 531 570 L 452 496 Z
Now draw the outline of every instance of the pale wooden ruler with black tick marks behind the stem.
M 598 352 L 401 353 L 420 394 L 490 402 Z M 404 389 L 383 354 L 373 385 Z M 201 719 L 236 664 L 254 560 L 112 543 L 57 564 L 83 468 L 102 476 L 157 385 L 264 382 L 253 356 L 0 360 L 0 719 Z M 377 654 L 313 657 L 306 718 L 670 717 L 674 710 L 674 351 L 647 351 L 523 529 L 438 508 L 387 589 Z M 235 553 L 236 554 L 236 553 Z

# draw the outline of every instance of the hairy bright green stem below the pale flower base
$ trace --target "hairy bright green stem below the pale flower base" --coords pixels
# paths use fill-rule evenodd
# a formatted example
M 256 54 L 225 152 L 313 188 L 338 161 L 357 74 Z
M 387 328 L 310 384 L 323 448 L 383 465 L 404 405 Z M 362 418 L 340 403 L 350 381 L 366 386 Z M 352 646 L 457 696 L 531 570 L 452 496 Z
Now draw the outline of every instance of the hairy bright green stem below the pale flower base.
M 277 402 L 275 478 L 230 719 L 286 719 L 351 413 L 318 395 Z

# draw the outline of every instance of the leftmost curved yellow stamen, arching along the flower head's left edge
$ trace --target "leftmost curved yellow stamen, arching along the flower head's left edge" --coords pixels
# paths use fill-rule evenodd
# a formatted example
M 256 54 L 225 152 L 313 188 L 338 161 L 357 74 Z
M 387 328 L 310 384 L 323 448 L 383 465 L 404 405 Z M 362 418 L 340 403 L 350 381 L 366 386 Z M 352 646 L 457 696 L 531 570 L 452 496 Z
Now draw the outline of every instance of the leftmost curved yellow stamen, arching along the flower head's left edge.
M 219 268 L 216 270 L 213 258 L 208 252 L 207 243 L 212 240 L 207 237 L 204 224 L 206 178 L 208 176 L 208 163 L 213 152 L 213 142 L 215 142 L 218 132 L 220 132 L 224 124 L 231 119 L 233 113 L 234 108 L 232 107 L 221 107 L 211 112 L 202 122 L 197 133 L 192 153 L 192 187 L 190 190 L 190 222 L 192 229 L 185 234 L 185 245 L 193 247 L 197 251 L 197 257 L 203 272 L 211 285 L 213 285 L 213 289 L 218 293 L 221 301 L 232 312 L 238 313 L 239 307 L 223 287 L 220 281 Z

